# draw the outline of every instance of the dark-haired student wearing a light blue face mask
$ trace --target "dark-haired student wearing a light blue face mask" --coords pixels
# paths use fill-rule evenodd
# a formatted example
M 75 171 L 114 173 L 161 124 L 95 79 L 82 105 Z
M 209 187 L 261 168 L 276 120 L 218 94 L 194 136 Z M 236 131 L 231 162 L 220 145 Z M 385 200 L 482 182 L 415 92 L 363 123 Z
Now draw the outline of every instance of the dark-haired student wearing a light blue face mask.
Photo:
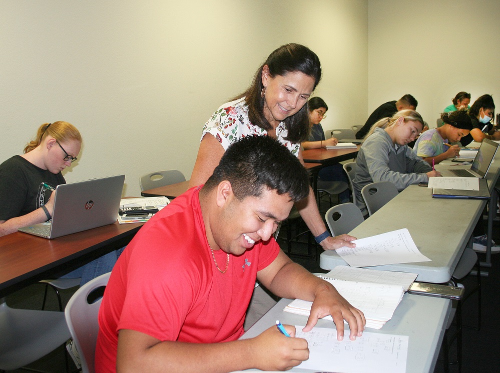
M 472 141 L 482 142 L 484 138 L 500 140 L 500 132 L 494 130 L 493 123 L 491 123 L 494 112 L 495 104 L 491 95 L 483 94 L 474 101 L 469 109 L 472 129 L 468 135 L 461 138 L 462 146 L 466 146 Z

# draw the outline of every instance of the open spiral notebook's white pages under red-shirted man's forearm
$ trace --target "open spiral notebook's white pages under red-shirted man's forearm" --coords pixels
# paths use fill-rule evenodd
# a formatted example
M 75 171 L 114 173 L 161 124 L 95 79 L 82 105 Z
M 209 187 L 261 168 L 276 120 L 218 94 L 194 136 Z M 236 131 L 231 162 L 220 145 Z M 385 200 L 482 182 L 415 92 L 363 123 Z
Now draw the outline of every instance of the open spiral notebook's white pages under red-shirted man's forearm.
M 392 318 L 404 295 L 404 288 L 401 285 L 344 281 L 324 276 L 322 278 L 333 284 L 353 307 L 361 310 L 366 318 L 366 327 L 373 329 L 380 329 Z M 295 299 L 284 310 L 309 316 L 311 306 L 310 301 Z M 332 320 L 330 315 L 324 318 Z

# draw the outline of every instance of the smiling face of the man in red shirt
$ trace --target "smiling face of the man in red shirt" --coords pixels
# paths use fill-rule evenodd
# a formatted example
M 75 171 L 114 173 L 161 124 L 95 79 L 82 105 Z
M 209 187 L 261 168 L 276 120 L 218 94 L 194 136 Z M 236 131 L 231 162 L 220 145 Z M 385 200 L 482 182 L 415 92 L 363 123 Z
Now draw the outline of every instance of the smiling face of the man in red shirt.
M 269 189 L 260 197 L 249 196 L 241 201 L 231 189 L 218 200 L 221 213 L 211 228 L 212 234 L 223 251 L 234 255 L 243 254 L 259 240 L 269 240 L 293 206 L 288 194 Z

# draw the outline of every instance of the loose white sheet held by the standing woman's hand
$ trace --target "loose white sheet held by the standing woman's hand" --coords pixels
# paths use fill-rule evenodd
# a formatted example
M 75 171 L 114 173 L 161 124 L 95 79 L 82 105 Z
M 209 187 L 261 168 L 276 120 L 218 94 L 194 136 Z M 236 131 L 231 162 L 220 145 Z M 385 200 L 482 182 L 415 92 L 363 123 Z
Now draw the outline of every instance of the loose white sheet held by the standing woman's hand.
M 431 261 L 413 242 L 406 228 L 352 241 L 356 247 L 341 247 L 337 253 L 353 267 Z

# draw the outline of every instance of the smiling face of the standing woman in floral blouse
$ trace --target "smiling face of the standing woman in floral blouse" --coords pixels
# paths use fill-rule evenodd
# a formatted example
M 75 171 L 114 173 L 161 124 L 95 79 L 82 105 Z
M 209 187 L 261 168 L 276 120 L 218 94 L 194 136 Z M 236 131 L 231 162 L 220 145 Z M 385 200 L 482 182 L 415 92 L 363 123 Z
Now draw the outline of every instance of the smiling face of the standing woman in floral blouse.
M 300 71 L 271 77 L 267 65 L 262 69 L 262 84 L 265 87 L 264 115 L 276 128 L 287 117 L 297 113 L 305 105 L 314 88 L 312 76 Z

